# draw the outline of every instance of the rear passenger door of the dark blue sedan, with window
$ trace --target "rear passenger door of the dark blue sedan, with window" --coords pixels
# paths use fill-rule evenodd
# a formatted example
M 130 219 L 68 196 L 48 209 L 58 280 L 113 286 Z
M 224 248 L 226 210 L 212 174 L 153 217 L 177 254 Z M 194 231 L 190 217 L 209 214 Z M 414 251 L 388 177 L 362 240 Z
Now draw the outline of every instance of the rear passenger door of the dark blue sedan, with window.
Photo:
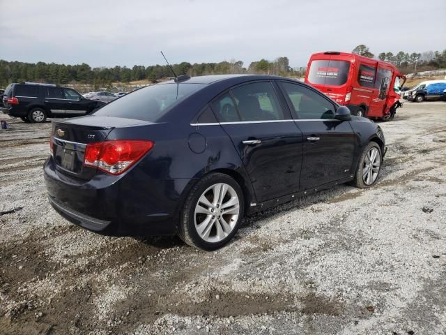
M 263 202 L 299 189 L 302 134 L 291 119 L 277 87 L 256 81 L 219 96 L 212 108 L 231 137 L 256 200 Z

